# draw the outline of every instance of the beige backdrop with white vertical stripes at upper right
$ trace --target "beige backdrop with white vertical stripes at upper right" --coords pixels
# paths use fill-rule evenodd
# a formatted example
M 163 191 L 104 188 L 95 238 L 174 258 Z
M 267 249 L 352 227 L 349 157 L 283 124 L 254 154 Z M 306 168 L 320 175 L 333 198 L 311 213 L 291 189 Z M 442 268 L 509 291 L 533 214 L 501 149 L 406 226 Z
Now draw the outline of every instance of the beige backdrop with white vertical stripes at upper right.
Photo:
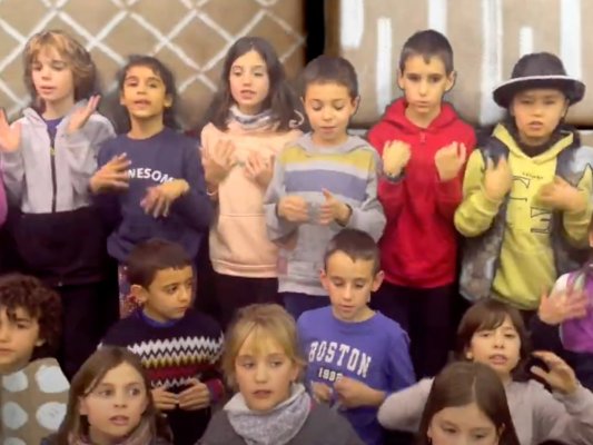
M 455 53 L 457 83 L 448 99 L 473 123 L 492 123 L 502 110 L 492 89 L 524 53 L 559 55 L 570 75 L 593 90 L 593 1 L 590 0 L 327 0 L 328 51 L 349 59 L 362 87 L 354 123 L 377 121 L 399 96 L 399 51 L 415 31 L 444 32 Z M 593 91 L 569 121 L 593 126 Z

